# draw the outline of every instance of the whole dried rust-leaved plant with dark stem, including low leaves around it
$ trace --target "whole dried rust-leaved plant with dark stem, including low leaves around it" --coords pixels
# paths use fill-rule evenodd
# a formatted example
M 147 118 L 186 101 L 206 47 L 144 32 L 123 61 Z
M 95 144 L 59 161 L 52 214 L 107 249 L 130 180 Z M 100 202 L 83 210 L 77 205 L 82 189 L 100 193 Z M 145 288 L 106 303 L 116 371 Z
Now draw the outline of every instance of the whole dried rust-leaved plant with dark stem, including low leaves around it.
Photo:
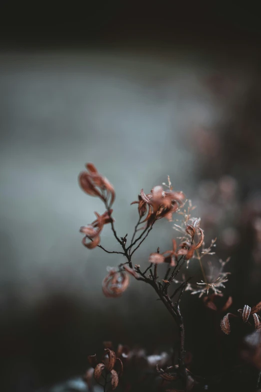
M 229 297 L 226 302 L 219 308 L 215 304 L 215 300 L 222 297 L 221 289 L 224 283 L 228 281 L 229 272 L 224 271 L 229 259 L 222 261 L 218 259 L 213 251 L 216 239 L 211 240 L 207 247 L 204 243 L 204 232 L 200 227 L 200 218 L 193 217 L 192 206 L 190 200 L 187 200 L 182 192 L 174 191 L 168 177 L 168 183 L 154 186 L 150 193 L 145 193 L 141 189 L 138 200 L 131 204 L 137 204 L 138 221 L 134 227 L 129 244 L 127 244 L 127 234 L 124 237 L 118 236 L 114 219 L 112 218 L 112 204 L 115 200 L 115 192 L 110 182 L 98 173 L 93 164 L 86 165 L 87 171 L 80 173 L 79 184 L 84 192 L 88 195 L 100 198 L 104 203 L 105 212 L 99 215 L 95 212 L 96 220 L 87 226 L 82 226 L 80 232 L 84 234 L 82 243 L 88 249 L 95 247 L 101 248 L 106 253 L 117 253 L 125 257 L 126 261 L 117 267 L 108 267 L 107 275 L 102 282 L 102 291 L 106 297 L 118 297 L 127 289 L 129 278 L 132 276 L 138 281 L 148 284 L 156 292 L 158 299 L 166 307 L 172 316 L 179 337 L 179 347 L 177 353 L 177 361 L 175 355 L 171 356 L 171 363 L 161 360 L 162 357 L 155 355 L 153 358 L 142 354 L 134 354 L 129 349 L 117 348 L 116 353 L 112 350 L 111 344 L 105 346 L 102 360 L 98 363 L 96 356 L 89 356 L 90 363 L 94 370 L 88 370 L 85 374 L 86 383 L 91 388 L 90 379 L 93 377 L 100 384 L 103 378 L 104 391 L 110 388 L 114 389 L 118 384 L 118 379 L 122 373 L 122 362 L 127 362 L 130 358 L 138 357 L 143 361 L 145 366 L 153 363 L 156 370 L 155 374 L 162 380 L 162 387 L 166 387 L 165 383 L 169 383 L 167 390 L 190 391 L 196 385 L 203 385 L 205 379 L 194 375 L 186 366 L 185 352 L 185 329 L 183 317 L 180 312 L 180 300 L 184 291 L 190 291 L 191 294 L 199 294 L 203 298 L 206 307 L 217 312 L 223 312 L 232 304 L 232 298 Z M 173 222 L 173 228 L 178 232 L 179 236 L 172 239 L 172 248 L 170 250 L 161 251 L 157 247 L 156 251 L 150 253 L 147 257 L 147 266 L 141 268 L 139 264 L 133 265 L 133 255 L 147 238 L 149 232 L 154 227 L 157 220 L 165 218 Z M 110 224 L 112 233 L 116 241 L 121 246 L 121 251 L 107 250 L 100 245 L 100 234 L 105 224 Z M 139 234 L 139 232 L 141 233 Z M 191 282 L 191 276 L 186 277 L 184 271 L 187 271 L 189 263 L 198 263 L 202 275 L 200 282 Z M 164 276 L 159 277 L 158 264 L 166 265 Z M 181 268 L 186 267 L 181 272 Z M 179 276 L 181 275 L 181 279 Z M 210 291 L 212 292 L 210 294 Z M 252 315 L 255 328 L 259 328 L 260 318 L 257 312 L 261 309 L 261 302 L 253 308 L 245 305 L 243 309 L 239 309 L 240 316 L 233 313 L 227 313 L 221 320 L 221 330 L 228 334 L 230 332 L 229 317 L 239 317 L 244 322 L 249 322 L 249 315 Z M 153 356 L 153 355 L 152 355 Z M 167 357 L 168 361 L 170 357 Z M 259 362 L 258 362 L 259 363 Z M 118 364 L 118 369 L 114 366 Z M 125 365 L 124 365 L 125 366 Z M 165 368 L 164 368 L 165 367 Z M 126 387 L 124 390 L 130 390 Z M 159 386 L 160 388 L 160 386 Z M 132 389 L 131 389 L 132 390 Z

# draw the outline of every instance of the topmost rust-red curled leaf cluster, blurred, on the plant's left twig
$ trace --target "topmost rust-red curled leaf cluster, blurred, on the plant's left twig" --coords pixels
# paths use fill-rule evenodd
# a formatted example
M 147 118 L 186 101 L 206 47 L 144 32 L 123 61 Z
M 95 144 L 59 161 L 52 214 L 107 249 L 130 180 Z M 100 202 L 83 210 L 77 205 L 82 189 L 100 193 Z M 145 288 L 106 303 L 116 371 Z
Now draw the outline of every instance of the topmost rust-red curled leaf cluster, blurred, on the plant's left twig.
M 98 173 L 92 163 L 87 163 L 85 166 L 87 171 L 79 174 L 80 187 L 88 195 L 99 197 L 110 207 L 115 199 L 113 186 L 105 177 Z

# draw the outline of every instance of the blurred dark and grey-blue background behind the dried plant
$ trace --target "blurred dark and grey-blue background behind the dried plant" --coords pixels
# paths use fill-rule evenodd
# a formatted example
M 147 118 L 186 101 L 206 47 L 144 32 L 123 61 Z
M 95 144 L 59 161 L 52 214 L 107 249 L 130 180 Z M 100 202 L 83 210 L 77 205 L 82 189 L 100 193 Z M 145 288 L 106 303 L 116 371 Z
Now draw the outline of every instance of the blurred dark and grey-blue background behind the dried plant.
M 8 7 L 9 6 L 9 7 Z M 197 205 L 207 241 L 231 272 L 232 309 L 260 301 L 261 28 L 258 13 L 220 2 L 1 5 L 0 347 L 2 390 L 33 391 L 84 373 L 103 340 L 147 352 L 176 341 L 149 287 L 119 299 L 101 281 L 120 257 L 81 245 L 103 212 L 78 186 L 93 162 L 114 185 L 117 233 L 132 233 L 141 188 L 170 176 Z M 176 236 L 160 221 L 135 253 L 147 265 Z M 119 245 L 105 227 L 101 244 Z M 201 279 L 198 266 L 190 273 Z M 214 373 L 219 319 L 185 293 L 194 371 Z M 223 339 L 223 336 L 221 337 Z M 227 363 L 234 361 L 231 338 Z

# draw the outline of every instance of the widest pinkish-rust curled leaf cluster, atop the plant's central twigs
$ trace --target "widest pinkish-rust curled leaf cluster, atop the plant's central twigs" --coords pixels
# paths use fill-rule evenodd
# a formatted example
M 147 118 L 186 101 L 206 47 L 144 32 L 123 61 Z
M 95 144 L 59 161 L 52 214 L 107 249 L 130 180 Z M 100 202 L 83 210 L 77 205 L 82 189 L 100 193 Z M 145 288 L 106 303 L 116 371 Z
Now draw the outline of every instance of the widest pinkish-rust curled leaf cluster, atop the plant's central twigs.
M 166 218 L 172 220 L 172 214 L 182 206 L 185 196 L 182 192 L 174 192 L 170 189 L 164 190 L 158 185 L 151 189 L 151 194 L 146 195 L 141 189 L 140 196 L 142 200 L 152 207 L 151 214 L 148 214 L 146 220 Z

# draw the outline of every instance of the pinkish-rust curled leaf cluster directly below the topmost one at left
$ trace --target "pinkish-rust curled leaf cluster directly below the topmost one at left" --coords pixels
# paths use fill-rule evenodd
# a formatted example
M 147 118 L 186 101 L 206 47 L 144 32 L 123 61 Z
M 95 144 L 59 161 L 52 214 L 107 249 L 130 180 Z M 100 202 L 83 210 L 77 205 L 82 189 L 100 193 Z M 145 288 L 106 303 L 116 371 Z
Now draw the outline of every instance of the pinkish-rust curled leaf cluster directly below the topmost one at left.
M 113 218 L 111 217 L 112 210 L 105 211 L 102 215 L 99 215 L 97 212 L 94 212 L 96 218 L 90 225 L 81 226 L 79 231 L 85 236 L 82 239 L 82 244 L 86 246 L 88 249 L 95 248 L 100 242 L 100 232 L 103 226 L 107 223 L 113 222 Z M 90 239 L 90 242 L 86 243 L 86 239 Z

